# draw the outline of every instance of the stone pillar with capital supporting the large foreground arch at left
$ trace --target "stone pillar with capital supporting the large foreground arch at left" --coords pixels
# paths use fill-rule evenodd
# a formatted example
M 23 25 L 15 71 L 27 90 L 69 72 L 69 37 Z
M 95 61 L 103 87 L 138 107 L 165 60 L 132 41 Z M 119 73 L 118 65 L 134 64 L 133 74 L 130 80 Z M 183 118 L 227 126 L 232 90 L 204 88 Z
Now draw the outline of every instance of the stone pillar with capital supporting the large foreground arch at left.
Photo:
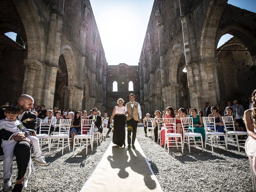
M 24 65 L 26 66 L 24 81 L 22 86 L 22 94 L 34 96 L 34 85 L 36 84 L 36 74 L 38 68 L 42 65 L 36 59 L 25 59 Z

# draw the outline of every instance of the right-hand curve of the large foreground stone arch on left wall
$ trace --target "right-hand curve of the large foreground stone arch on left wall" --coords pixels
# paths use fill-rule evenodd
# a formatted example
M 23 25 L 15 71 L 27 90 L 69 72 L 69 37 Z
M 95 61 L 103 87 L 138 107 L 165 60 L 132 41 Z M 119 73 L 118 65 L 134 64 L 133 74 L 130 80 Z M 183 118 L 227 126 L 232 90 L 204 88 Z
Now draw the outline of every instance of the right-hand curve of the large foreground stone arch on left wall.
M 33 0 L 13 1 L 22 20 L 27 39 L 28 59 L 44 60 L 45 42 L 44 27 L 42 26 L 35 10 Z

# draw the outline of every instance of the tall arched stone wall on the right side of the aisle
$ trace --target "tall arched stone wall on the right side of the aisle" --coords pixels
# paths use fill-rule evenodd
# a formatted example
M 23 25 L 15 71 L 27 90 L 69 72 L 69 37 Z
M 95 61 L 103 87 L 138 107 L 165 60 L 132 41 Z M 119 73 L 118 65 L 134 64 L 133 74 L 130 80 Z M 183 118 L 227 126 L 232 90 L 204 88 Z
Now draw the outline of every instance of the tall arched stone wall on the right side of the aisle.
M 155 0 L 139 62 L 143 112 L 248 97 L 256 88 L 255 20 L 227 0 Z M 217 50 L 227 33 L 236 38 Z

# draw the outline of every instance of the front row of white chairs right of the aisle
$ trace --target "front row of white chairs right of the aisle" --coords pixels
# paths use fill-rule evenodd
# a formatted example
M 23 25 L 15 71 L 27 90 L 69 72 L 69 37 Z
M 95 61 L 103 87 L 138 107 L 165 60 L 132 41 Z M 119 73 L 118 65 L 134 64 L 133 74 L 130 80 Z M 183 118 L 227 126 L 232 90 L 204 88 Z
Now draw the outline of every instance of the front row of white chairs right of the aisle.
M 230 138 L 231 141 L 237 143 L 238 151 L 240 151 L 239 141 L 245 141 L 245 140 L 239 139 L 238 136 L 248 135 L 248 133 L 244 131 L 235 130 L 233 117 L 222 117 L 222 121 L 224 123 L 226 133 L 216 131 L 216 123 L 215 123 L 214 117 L 203 117 L 202 119 L 204 123 L 204 130 L 206 133 L 206 141 L 204 146 L 203 146 L 202 134 L 194 132 L 193 118 L 192 117 L 181 118 L 182 130 L 183 130 L 183 137 L 181 142 L 183 144 L 183 148 L 185 143 L 188 144 L 188 150 L 190 152 L 190 146 L 196 146 L 196 144 L 198 144 L 198 146 L 202 146 L 202 151 L 204 152 L 204 148 L 206 148 L 206 143 L 208 143 L 212 146 L 212 152 L 213 152 L 214 145 L 216 145 L 217 147 L 220 145 L 224 145 L 227 150 L 228 148 L 227 138 Z M 178 146 L 176 141 L 177 141 L 177 138 L 181 136 L 181 134 L 176 133 L 175 118 L 157 118 L 157 124 L 158 124 L 158 141 L 160 140 L 160 143 L 161 143 L 161 128 L 163 127 L 165 131 L 166 137 L 164 142 L 164 148 L 166 144 L 167 146 L 169 146 L 170 143 L 172 144 L 172 146 Z M 233 136 L 235 136 L 236 138 L 235 141 L 233 139 Z M 199 137 L 200 141 L 196 141 L 195 137 Z M 176 145 L 173 145 L 174 143 Z M 169 152 L 169 148 L 168 148 L 168 152 Z

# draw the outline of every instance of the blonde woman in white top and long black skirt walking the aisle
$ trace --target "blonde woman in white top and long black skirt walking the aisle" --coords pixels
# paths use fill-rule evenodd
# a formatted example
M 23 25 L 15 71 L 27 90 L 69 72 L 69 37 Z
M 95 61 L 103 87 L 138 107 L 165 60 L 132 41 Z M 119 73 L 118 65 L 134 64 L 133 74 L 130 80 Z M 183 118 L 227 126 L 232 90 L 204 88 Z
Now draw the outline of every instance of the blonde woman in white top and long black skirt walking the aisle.
M 125 147 L 125 116 L 124 116 L 124 100 L 122 98 L 117 100 L 118 106 L 114 106 L 110 122 L 114 118 L 114 132 L 113 143 L 119 148 Z

